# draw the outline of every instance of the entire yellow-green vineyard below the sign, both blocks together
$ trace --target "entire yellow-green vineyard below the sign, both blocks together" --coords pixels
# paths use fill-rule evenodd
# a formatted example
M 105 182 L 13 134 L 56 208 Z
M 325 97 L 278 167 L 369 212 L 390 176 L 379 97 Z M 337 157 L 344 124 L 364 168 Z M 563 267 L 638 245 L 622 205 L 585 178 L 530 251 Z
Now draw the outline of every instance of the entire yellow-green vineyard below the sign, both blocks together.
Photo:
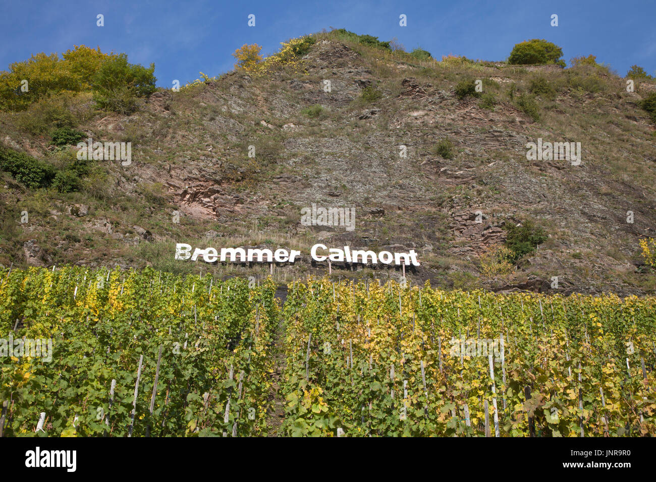
M 5 268 L 0 339 L 3 437 L 656 435 L 653 297 Z

